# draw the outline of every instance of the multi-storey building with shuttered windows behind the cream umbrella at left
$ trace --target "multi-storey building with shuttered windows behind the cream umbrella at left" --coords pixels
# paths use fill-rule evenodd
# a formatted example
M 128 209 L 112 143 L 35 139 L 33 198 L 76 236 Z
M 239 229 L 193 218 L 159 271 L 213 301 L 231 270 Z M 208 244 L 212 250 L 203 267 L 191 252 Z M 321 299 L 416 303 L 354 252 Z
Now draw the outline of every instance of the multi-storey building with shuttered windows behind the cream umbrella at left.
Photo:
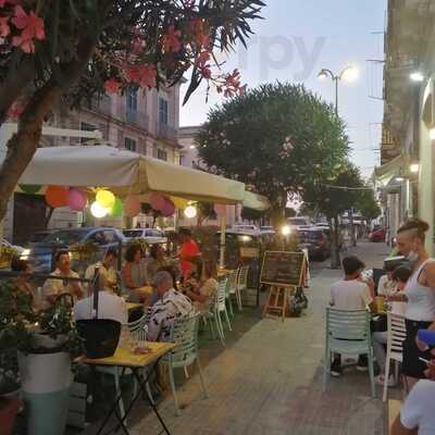
M 178 144 L 179 85 L 159 90 L 132 88 L 124 95 L 95 98 L 78 111 L 70 111 L 59 104 L 47 125 L 76 130 L 100 130 L 102 140 L 114 147 L 181 164 L 183 147 Z M 86 138 L 44 136 L 41 145 L 94 146 L 98 142 Z M 36 214 L 38 217 L 35 219 Z M 15 194 L 5 219 L 5 237 L 14 243 L 25 243 L 34 232 L 45 226 L 45 214 L 44 198 Z M 49 227 L 74 227 L 80 225 L 84 219 L 82 212 L 71 212 L 66 208 L 57 209 Z M 145 224 L 147 219 L 141 215 L 138 221 Z M 91 223 L 89 216 L 87 223 Z M 122 220 L 96 222 L 100 223 L 116 226 L 125 224 Z

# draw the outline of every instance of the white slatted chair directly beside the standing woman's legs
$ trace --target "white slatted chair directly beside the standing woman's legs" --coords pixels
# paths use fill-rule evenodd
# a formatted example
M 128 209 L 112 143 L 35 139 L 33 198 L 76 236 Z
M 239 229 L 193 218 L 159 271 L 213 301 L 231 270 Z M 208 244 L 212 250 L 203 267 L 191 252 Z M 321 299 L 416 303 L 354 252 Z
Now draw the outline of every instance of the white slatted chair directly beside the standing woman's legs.
M 396 363 L 396 382 L 398 382 L 399 378 L 399 364 L 403 362 L 403 340 L 407 336 L 405 318 L 400 314 L 387 313 L 387 356 L 385 360 L 384 394 L 382 396 L 382 401 L 386 401 L 388 396 L 388 376 L 391 360 Z

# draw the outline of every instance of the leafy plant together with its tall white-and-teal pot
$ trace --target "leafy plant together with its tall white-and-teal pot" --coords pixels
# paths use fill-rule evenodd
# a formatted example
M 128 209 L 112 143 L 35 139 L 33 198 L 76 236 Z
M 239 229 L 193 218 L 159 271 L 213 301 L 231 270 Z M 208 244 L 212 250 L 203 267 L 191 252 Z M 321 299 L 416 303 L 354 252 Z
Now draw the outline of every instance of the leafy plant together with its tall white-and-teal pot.
M 70 307 L 58 304 L 38 313 L 37 328 L 18 345 L 23 399 L 29 435 L 62 434 L 66 424 L 72 357 L 80 353 Z

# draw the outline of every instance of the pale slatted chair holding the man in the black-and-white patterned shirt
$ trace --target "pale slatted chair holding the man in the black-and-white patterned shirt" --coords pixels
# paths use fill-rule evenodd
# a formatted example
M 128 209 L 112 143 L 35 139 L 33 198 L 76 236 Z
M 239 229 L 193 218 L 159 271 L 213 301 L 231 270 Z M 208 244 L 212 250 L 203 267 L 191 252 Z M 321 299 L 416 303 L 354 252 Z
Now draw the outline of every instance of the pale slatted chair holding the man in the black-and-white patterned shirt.
M 182 412 L 179 410 L 178 398 L 175 388 L 175 369 L 185 369 L 196 362 L 202 390 L 206 398 L 209 397 L 202 374 L 202 368 L 198 357 L 198 313 L 176 319 L 171 326 L 171 335 L 169 341 L 175 343 L 177 346 L 162 359 L 162 361 L 167 363 L 169 366 L 170 384 L 177 415 L 181 415 Z

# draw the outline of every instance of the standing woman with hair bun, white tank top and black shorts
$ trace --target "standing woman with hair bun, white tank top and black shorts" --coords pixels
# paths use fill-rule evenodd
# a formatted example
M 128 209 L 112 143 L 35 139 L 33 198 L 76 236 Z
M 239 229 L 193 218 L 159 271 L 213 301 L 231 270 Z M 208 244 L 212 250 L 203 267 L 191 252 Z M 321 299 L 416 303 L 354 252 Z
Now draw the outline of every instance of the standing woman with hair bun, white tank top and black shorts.
M 428 258 L 424 248 L 428 224 L 419 219 L 405 222 L 397 232 L 397 247 L 411 263 L 412 275 L 403 294 L 387 297 L 390 301 L 406 301 L 405 321 L 407 338 L 403 341 L 402 372 L 407 375 L 408 388 L 424 378 L 426 364 L 419 358 L 428 359 L 427 351 L 417 346 L 417 332 L 426 330 L 435 322 L 435 260 Z

